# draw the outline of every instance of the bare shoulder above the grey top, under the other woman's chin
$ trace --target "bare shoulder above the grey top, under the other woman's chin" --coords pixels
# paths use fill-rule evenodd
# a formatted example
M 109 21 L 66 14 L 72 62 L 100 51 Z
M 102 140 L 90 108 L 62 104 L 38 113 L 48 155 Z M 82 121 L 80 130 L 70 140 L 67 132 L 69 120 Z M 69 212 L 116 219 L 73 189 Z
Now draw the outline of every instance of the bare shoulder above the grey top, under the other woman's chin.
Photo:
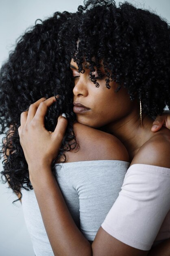
M 115 136 L 75 123 L 74 132 L 79 147 L 66 155 L 66 162 L 93 160 L 129 161 L 126 148 Z

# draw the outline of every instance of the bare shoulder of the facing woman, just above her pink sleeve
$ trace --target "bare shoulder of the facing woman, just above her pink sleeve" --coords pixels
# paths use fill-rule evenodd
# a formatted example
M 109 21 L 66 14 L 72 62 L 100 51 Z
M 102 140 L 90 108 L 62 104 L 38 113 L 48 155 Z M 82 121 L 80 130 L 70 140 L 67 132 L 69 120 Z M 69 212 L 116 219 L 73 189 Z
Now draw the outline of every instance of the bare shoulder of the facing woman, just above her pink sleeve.
M 150 164 L 170 168 L 170 132 L 162 130 L 146 141 L 131 164 Z

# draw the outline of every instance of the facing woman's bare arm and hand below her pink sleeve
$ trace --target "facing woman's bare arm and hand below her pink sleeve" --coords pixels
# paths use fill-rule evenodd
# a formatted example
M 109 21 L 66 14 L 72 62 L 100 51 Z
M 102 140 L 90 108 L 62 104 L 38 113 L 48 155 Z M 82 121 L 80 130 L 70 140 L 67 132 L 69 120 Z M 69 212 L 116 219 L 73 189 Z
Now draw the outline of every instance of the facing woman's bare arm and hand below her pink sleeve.
M 38 109 L 32 106 L 30 108 L 32 111 L 24 112 L 21 116 L 19 135 L 28 163 L 30 180 L 54 254 L 65 256 L 81 254 L 116 256 L 118 253 L 121 256 L 147 255 L 146 251 L 135 249 L 116 240 L 102 228 L 99 229 L 91 247 L 74 224 L 50 168 L 52 157 L 57 153 L 66 127 L 66 120 L 60 117 L 54 133 L 45 130 L 43 117 L 52 102 L 54 102 L 52 99 L 48 99 Z M 39 103 L 40 101 L 37 104 Z M 39 137 L 43 138 L 41 145 L 39 145 L 40 141 L 37 141 Z M 37 152 L 39 152 L 38 159 Z

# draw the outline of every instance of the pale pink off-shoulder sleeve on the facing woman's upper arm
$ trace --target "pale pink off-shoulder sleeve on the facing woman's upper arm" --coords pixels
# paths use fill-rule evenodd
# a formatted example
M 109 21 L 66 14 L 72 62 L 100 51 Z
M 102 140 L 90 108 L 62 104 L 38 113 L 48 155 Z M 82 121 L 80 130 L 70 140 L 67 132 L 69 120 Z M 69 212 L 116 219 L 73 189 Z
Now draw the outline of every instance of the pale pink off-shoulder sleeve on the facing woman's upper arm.
M 169 210 L 170 169 L 133 164 L 102 228 L 122 243 L 147 251 Z

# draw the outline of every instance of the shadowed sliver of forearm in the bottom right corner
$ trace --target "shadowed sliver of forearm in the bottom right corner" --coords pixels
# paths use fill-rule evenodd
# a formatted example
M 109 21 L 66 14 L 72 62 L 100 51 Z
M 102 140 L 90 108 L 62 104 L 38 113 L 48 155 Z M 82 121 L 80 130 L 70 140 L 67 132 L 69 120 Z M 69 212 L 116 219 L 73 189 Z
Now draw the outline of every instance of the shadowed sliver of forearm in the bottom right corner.
M 148 256 L 170 256 L 170 239 L 150 249 Z

